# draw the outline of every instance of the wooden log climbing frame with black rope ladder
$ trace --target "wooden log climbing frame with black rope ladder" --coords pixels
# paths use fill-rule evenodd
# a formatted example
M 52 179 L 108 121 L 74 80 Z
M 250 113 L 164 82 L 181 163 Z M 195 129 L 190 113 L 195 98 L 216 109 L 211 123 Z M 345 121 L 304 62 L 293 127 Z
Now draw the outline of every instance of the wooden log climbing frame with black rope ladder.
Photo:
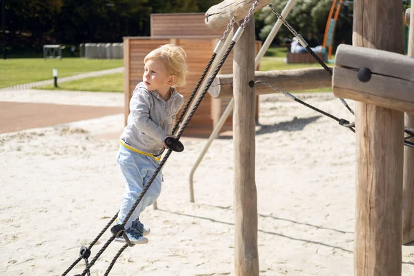
M 288 5 L 293 5 L 294 2 L 290 0 Z M 387 52 L 342 46 L 337 53 L 338 63 L 337 68 L 334 68 L 332 80 L 335 95 L 361 101 L 357 103 L 355 121 L 355 127 L 357 128 L 357 195 L 354 271 L 355 275 L 401 275 L 401 244 L 404 242 L 402 237 L 406 237 L 406 241 L 414 240 L 413 235 L 406 232 L 406 230 L 412 230 L 412 227 L 411 229 L 403 228 L 402 222 L 404 216 L 413 221 L 411 215 L 413 202 L 411 198 L 413 197 L 414 178 L 412 176 L 404 177 L 403 185 L 402 142 L 404 141 L 404 111 L 412 112 L 414 110 L 414 101 L 411 97 L 414 79 L 409 74 L 414 68 L 414 63 L 411 59 L 402 55 L 391 54 L 391 52 L 403 52 L 402 45 L 395 43 L 395 41 L 402 41 L 402 29 L 400 28 L 402 8 L 397 4 L 398 1 L 380 0 L 377 1 L 376 5 L 369 5 L 368 2 L 368 0 L 362 0 L 355 3 L 354 46 L 365 46 L 364 43 L 368 41 L 367 46 L 370 46 L 369 48 L 382 49 Z M 317 80 L 313 84 L 315 87 L 326 84 L 326 79 L 324 79 L 326 76 L 321 77 L 321 70 L 310 71 L 308 69 L 295 70 L 296 72 L 285 71 L 279 75 L 277 73 L 265 73 L 256 79 L 257 74 L 259 74 L 255 73 L 257 61 L 259 61 L 260 55 L 263 54 L 263 48 L 266 47 L 264 46 L 255 58 L 255 32 L 252 14 L 255 8 L 262 8 L 268 3 L 270 3 L 270 0 L 255 1 L 253 8 L 250 8 L 251 3 L 232 0 L 221 2 L 208 10 L 206 25 L 209 28 L 224 27 L 228 24 L 228 21 L 232 22 L 232 20 L 236 22 L 235 27 L 228 39 L 221 44 L 221 50 L 217 50 L 219 47 L 215 48 L 214 54 L 219 52 L 218 56 L 221 61 L 219 63 L 213 62 L 211 71 L 214 72 L 210 72 L 210 75 L 208 75 L 208 83 L 205 84 L 206 82 L 204 82 L 201 86 L 196 86 L 193 92 L 197 92 L 197 88 L 200 88 L 199 91 L 202 90 L 203 92 L 195 97 L 190 108 L 188 106 L 184 108 L 191 111 L 189 114 L 183 112 L 183 115 L 186 114 L 184 119 L 180 116 L 178 121 L 178 123 L 181 122 L 181 126 L 178 129 L 175 127 L 179 139 L 191 117 L 193 117 L 195 110 L 197 110 L 199 103 L 201 103 L 206 90 L 208 90 L 224 60 L 228 57 L 230 50 L 234 48 L 233 99 L 230 103 L 234 100 L 233 141 L 236 149 L 234 152 L 235 275 L 259 275 L 257 192 L 255 186 L 255 99 L 257 97 L 255 87 L 257 86 L 257 91 L 259 91 L 260 86 L 267 86 L 268 88 L 273 87 L 273 84 L 281 86 L 281 83 L 270 82 L 284 77 L 292 79 L 290 80 L 293 81 L 292 83 L 295 83 L 295 81 L 304 82 L 302 76 L 307 76 L 309 83 Z M 286 14 L 285 10 L 282 14 Z M 246 14 L 248 15 L 246 16 Z M 362 18 L 367 16 L 371 20 L 363 21 Z M 231 24 L 229 25 L 231 26 Z M 238 26 L 239 28 L 237 28 Z M 413 26 L 411 25 L 411 27 Z M 411 28 L 411 30 L 413 29 Z M 230 39 L 232 36 L 233 39 Z M 266 43 L 264 44 L 266 45 Z M 413 36 L 411 35 L 412 47 Z M 380 58 L 381 55 L 386 55 L 386 57 Z M 413 52 L 410 55 L 413 55 Z M 327 67 L 325 69 L 331 72 L 331 69 Z M 225 79 L 225 77 L 222 77 L 221 81 L 224 83 Z M 219 77 L 215 92 L 217 97 L 221 92 L 226 91 L 226 86 L 227 90 L 229 87 L 226 83 L 226 86 L 221 88 L 221 81 Z M 227 77 L 228 81 L 231 81 L 231 79 Z M 295 85 L 292 83 L 286 84 L 286 88 Z M 274 91 L 273 89 L 266 90 L 266 88 L 262 88 L 262 92 L 259 93 L 264 94 Z M 411 116 L 410 114 L 407 115 L 407 122 L 410 127 L 414 121 Z M 176 133 L 175 130 L 173 130 L 174 133 Z M 171 150 L 168 150 L 155 171 L 155 175 L 161 170 L 170 153 Z M 414 161 L 413 148 L 406 151 L 405 157 L 405 172 L 406 175 L 410 175 L 410 169 L 413 168 Z M 409 162 L 411 164 L 408 164 Z M 150 184 L 151 180 L 146 184 L 135 202 L 135 207 Z M 403 186 L 404 196 L 402 193 Z M 402 202 L 406 204 L 404 212 Z M 135 207 L 132 206 L 131 210 Z M 110 224 L 115 220 L 115 217 L 112 218 Z M 121 227 L 124 226 L 121 225 Z M 92 259 L 92 262 L 87 264 L 87 268 L 82 275 L 86 275 L 90 266 L 96 262 L 99 255 L 115 238 L 115 235 L 122 234 L 122 231 L 122 229 L 119 232 L 112 231 L 112 237 L 103 245 L 97 256 Z M 95 244 L 97 239 L 92 242 L 92 245 Z M 110 268 L 128 245 L 131 246 L 125 244 L 119 250 L 119 253 L 110 264 Z M 90 248 L 85 248 L 86 250 L 90 250 Z M 75 264 L 76 262 L 68 270 Z M 107 272 L 110 271 L 110 268 Z M 66 274 L 63 273 L 63 275 Z M 108 274 L 106 273 L 106 275 Z

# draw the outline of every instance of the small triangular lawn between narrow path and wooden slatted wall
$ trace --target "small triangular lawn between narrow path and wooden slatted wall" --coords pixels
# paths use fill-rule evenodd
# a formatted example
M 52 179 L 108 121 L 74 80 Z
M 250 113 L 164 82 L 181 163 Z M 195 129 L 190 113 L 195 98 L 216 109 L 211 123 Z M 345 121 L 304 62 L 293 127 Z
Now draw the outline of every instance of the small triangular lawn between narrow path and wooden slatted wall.
M 53 85 L 41 86 L 36 89 L 48 90 L 78 90 L 78 91 L 101 91 L 101 92 L 124 92 L 124 73 L 105 75 L 101 77 L 90 77 L 59 83 L 59 87 Z

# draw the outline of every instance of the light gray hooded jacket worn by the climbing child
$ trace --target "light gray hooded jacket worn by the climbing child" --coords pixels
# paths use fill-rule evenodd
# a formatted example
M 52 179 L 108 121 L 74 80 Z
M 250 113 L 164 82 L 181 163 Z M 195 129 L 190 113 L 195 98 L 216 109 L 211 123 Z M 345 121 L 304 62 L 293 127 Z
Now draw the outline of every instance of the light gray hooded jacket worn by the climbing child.
M 157 91 L 148 91 L 144 83 L 138 83 L 130 100 L 128 124 L 120 139 L 137 150 L 159 155 L 183 103 L 184 97 L 175 88 L 171 88 L 170 99 L 164 101 Z

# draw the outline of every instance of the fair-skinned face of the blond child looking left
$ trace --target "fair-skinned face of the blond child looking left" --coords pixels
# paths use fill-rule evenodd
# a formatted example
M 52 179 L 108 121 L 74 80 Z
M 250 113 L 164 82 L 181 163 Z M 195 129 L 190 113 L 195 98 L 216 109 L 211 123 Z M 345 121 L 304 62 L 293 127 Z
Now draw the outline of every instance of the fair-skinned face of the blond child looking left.
M 172 83 L 167 66 L 159 59 L 148 59 L 144 66 L 142 81 L 148 90 L 157 90 L 160 94 L 168 92 Z

